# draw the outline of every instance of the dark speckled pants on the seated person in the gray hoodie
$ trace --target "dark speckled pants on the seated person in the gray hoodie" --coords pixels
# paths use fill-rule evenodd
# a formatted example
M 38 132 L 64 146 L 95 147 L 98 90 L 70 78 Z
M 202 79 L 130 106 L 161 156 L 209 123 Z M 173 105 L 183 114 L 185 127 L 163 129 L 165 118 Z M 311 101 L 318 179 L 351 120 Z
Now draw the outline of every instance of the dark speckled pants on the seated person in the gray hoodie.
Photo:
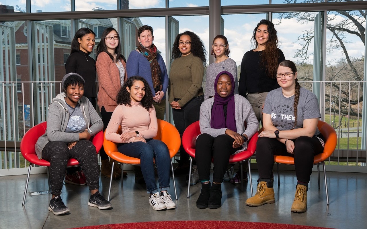
M 69 158 L 79 161 L 90 190 L 99 188 L 98 160 L 95 146 L 88 140 L 78 141 L 72 149 L 62 141 L 52 141 L 42 150 L 42 158 L 50 162 L 51 194 L 60 195 Z

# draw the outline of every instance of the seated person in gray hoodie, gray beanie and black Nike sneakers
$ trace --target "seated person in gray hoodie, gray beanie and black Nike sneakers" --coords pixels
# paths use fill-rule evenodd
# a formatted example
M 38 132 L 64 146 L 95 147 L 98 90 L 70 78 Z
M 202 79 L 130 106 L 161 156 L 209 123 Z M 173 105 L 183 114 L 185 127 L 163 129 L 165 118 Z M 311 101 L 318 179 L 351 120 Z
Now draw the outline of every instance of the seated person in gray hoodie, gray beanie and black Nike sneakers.
M 36 144 L 38 158 L 50 162 L 52 198 L 48 210 L 55 215 L 70 211 L 60 194 L 69 158 L 79 161 L 87 178 L 91 196 L 89 206 L 107 209 L 112 207 L 99 188 L 98 160 L 90 137 L 103 128 L 102 119 L 88 100 L 83 97 L 84 79 L 76 73 L 68 73 L 62 79 L 64 92 L 57 95 L 48 107 L 47 129 Z

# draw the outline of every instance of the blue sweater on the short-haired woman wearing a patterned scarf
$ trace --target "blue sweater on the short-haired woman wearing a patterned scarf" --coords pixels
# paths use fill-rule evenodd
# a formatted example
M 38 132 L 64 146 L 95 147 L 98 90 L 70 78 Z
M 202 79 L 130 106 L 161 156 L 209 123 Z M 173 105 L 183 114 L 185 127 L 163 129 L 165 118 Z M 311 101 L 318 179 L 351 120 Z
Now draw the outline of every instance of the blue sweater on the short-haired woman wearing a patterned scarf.
M 168 74 L 166 64 L 164 64 L 163 58 L 159 53 L 157 53 L 157 60 L 161 69 L 161 84 L 162 92 L 164 92 L 164 99 L 166 98 L 166 93 L 168 89 Z M 145 56 L 143 56 L 140 52 L 136 50 L 130 52 L 129 58 L 126 62 L 126 71 L 127 78 L 130 78 L 134 75 L 143 77 L 148 82 L 150 89 L 152 90 L 153 97 L 156 96 L 153 88 L 152 70 L 150 69 L 150 63 Z

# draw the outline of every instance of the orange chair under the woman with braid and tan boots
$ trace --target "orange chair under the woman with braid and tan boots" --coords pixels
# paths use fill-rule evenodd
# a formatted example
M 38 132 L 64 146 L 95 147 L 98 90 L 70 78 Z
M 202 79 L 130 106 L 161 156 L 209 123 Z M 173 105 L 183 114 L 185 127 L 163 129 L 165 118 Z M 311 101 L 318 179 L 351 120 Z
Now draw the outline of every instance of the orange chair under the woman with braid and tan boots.
M 337 133 L 334 128 L 327 124 L 326 122 L 320 121 L 317 123 L 317 128 L 319 128 L 321 134 L 326 139 L 324 151 L 321 154 L 317 154 L 313 159 L 313 165 L 317 165 L 317 175 L 319 178 L 319 189 L 320 189 L 320 165 L 324 168 L 324 180 L 325 180 L 325 191 L 326 191 L 326 202 L 329 205 L 329 194 L 327 190 L 326 182 L 326 169 L 324 160 L 328 159 L 331 154 L 333 154 L 335 147 L 337 146 Z M 277 163 L 278 167 L 278 186 L 280 185 L 279 179 L 279 164 L 294 165 L 294 158 L 291 156 L 280 156 L 274 155 L 274 162 Z

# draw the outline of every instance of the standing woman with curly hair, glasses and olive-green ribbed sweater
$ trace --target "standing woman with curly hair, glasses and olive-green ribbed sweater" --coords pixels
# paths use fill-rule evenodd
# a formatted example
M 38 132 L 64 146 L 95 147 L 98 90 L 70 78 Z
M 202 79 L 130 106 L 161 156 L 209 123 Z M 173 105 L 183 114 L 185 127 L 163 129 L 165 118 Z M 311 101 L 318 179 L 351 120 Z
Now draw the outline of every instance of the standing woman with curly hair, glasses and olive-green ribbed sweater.
M 172 48 L 172 59 L 168 100 L 173 109 L 173 121 L 182 138 L 185 129 L 199 120 L 200 105 L 204 101 L 201 84 L 206 50 L 203 41 L 190 31 L 178 34 Z M 186 172 L 189 168 L 189 154 L 182 145 L 180 159 L 175 169 L 177 173 Z M 197 177 L 197 173 L 195 175 Z

